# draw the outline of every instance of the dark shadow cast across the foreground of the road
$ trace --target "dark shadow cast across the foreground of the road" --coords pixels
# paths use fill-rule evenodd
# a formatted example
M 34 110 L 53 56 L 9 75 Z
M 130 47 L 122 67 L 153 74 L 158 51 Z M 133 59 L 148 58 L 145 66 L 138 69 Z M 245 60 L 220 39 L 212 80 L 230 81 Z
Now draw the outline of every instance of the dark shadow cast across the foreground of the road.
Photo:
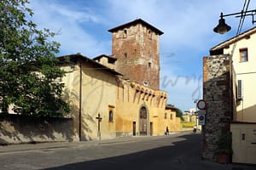
M 167 137 L 166 137 L 167 138 Z M 94 161 L 83 161 L 67 164 L 61 167 L 50 167 L 44 170 L 226 170 L 232 165 L 222 165 L 215 162 L 201 161 L 201 135 L 183 135 L 183 141 L 170 143 L 170 146 L 152 150 L 144 150 L 123 156 L 114 156 Z M 131 144 L 132 147 L 132 144 Z M 244 170 L 246 168 L 243 168 Z M 252 168 L 253 169 L 253 168 Z

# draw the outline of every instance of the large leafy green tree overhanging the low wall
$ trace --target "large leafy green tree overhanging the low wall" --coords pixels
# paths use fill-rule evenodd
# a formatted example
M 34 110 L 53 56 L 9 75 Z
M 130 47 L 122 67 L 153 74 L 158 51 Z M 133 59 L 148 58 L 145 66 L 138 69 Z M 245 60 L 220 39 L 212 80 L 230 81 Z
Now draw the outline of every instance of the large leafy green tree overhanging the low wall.
M 69 111 L 61 99 L 65 76 L 55 54 L 60 44 L 50 41 L 55 33 L 38 30 L 30 20 L 27 0 L 0 2 L 0 109 L 29 116 L 63 116 Z

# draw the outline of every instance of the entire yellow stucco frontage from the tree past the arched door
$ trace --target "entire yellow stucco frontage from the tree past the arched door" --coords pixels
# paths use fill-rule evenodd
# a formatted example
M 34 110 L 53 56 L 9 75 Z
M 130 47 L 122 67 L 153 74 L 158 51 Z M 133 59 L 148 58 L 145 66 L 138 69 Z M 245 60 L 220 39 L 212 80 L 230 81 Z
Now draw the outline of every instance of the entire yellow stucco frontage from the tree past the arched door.
M 96 119 L 99 113 L 102 117 L 101 139 L 131 135 L 163 135 L 166 127 L 169 127 L 170 131 L 180 129 L 180 119 L 176 117 L 175 111 L 166 110 L 166 92 L 116 77 L 86 61 L 78 60 L 73 66 L 62 65 L 61 68 L 67 71 L 66 76 L 62 78 L 62 82 L 65 83 L 63 98 L 71 105 L 72 111 L 68 116 L 73 117 L 74 140 L 79 140 L 80 98 L 81 140 L 99 139 Z M 140 118 L 142 108 L 147 112 L 145 123 Z M 113 111 L 111 121 L 109 111 Z M 165 113 L 168 115 L 166 119 Z M 147 133 L 141 133 L 144 124 Z

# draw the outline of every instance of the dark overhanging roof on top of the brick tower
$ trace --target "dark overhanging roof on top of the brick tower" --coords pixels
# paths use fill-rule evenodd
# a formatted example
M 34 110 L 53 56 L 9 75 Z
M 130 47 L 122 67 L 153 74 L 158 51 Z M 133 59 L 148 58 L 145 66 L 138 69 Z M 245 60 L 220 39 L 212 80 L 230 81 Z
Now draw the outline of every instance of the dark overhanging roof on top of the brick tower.
M 121 25 L 121 26 L 116 26 L 112 29 L 109 29 L 108 31 L 110 32 L 114 32 L 114 31 L 119 31 L 119 30 L 123 30 L 124 28 L 127 28 L 129 26 L 134 26 L 134 25 L 137 25 L 137 24 L 142 24 L 143 26 L 147 26 L 148 28 L 150 28 L 152 31 L 155 31 L 157 34 L 159 35 L 162 35 L 164 32 L 163 31 L 160 31 L 159 29 L 157 29 L 156 27 L 148 24 L 148 22 L 142 20 L 142 19 L 136 19 L 136 20 L 133 20 L 131 22 L 128 22 L 124 25 Z

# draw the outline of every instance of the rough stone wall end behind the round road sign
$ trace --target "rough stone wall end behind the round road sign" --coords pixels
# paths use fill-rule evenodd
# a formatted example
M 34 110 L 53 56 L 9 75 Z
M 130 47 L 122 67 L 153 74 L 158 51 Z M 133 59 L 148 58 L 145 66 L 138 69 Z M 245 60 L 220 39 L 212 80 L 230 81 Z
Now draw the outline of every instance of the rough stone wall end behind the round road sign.
M 203 59 L 203 99 L 207 102 L 203 127 L 203 160 L 217 161 L 217 143 L 232 120 L 232 82 L 230 55 L 212 55 Z

